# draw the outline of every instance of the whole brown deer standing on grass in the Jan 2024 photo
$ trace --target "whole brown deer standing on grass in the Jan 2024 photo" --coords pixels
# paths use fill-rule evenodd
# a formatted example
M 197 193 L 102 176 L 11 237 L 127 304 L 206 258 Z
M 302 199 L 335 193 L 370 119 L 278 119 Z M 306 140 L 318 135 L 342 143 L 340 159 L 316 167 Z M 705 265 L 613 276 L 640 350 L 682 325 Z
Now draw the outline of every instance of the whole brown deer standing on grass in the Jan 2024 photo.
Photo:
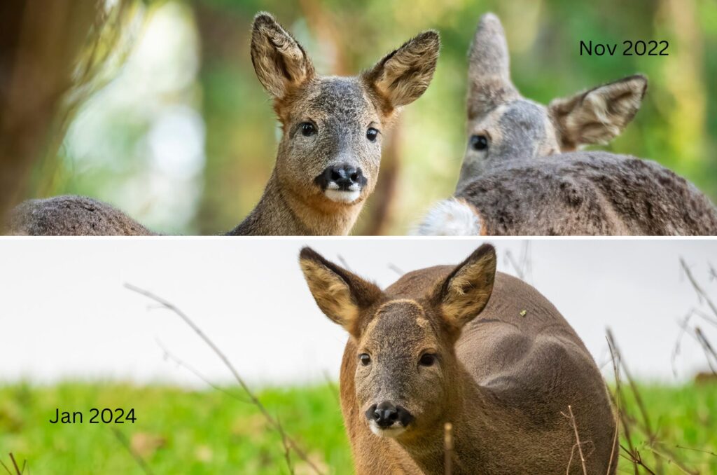
M 310 248 L 300 265 L 349 337 L 341 411 L 356 473 L 614 474 L 616 427 L 594 360 L 533 287 L 495 272 L 484 244 L 460 265 L 409 272 L 381 291 Z

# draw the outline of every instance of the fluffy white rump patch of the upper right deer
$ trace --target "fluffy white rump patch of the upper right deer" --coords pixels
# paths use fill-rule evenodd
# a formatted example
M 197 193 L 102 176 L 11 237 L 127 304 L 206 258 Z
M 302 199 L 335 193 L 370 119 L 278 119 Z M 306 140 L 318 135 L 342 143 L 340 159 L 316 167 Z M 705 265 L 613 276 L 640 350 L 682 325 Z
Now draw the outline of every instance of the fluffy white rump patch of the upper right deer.
M 418 236 L 477 236 L 480 235 L 480 217 L 473 207 L 460 199 L 438 202 L 424 217 L 412 235 Z

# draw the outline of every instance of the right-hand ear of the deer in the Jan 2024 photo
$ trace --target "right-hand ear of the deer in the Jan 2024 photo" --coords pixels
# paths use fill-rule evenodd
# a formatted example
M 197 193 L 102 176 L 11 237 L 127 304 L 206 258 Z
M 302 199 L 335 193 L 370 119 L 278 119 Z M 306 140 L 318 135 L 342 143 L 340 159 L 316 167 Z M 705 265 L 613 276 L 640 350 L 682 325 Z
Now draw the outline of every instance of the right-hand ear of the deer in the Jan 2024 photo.
M 481 245 L 438 287 L 437 301 L 443 319 L 453 329 L 461 329 L 488 304 L 493 293 L 495 265 L 495 248 Z

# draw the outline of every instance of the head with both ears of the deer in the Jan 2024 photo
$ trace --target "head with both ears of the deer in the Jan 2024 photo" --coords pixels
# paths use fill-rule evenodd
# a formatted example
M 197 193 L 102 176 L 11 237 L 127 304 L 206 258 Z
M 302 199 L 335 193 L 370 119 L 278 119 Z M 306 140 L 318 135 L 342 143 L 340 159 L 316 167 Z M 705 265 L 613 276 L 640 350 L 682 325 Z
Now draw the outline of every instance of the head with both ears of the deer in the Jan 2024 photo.
M 460 380 L 454 345 L 488 303 L 495 264 L 493 246 L 482 245 L 427 293 L 384 292 L 310 248 L 301 251 L 316 304 L 356 343 L 356 399 L 374 434 L 401 441 L 442 428 Z

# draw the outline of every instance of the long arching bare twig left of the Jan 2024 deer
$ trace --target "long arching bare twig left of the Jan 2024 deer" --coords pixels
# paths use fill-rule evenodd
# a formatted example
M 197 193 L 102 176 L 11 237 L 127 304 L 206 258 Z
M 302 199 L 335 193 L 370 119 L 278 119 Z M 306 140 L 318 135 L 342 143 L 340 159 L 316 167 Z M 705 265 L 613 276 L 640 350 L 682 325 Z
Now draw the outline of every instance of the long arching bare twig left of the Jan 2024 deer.
M 238 372 L 237 369 L 234 367 L 234 365 L 232 365 L 232 362 L 229 361 L 229 358 L 227 358 L 227 355 L 225 355 L 224 352 L 222 352 L 222 350 L 219 349 L 219 347 L 217 347 L 216 344 L 214 344 L 214 342 L 212 341 L 212 339 L 210 339 L 209 337 L 206 336 L 206 334 L 204 334 L 204 331 L 201 331 L 201 329 L 199 328 L 199 326 L 196 326 L 196 324 L 194 323 L 194 321 L 192 321 L 192 320 L 189 318 L 189 316 L 187 316 L 183 311 L 181 311 L 181 309 L 179 309 L 178 307 L 176 307 L 176 306 L 175 306 L 174 304 L 172 304 L 170 301 L 166 301 L 165 299 L 163 299 L 163 298 L 161 298 L 161 297 L 159 297 L 159 296 L 156 296 L 154 293 L 151 293 L 150 291 L 146 291 L 146 290 L 143 289 L 143 288 L 139 288 L 139 287 L 137 287 L 137 286 L 133 286 L 133 285 L 130 284 L 130 283 L 125 283 L 125 287 L 128 288 L 130 291 L 139 293 L 140 295 L 143 295 L 143 296 L 146 296 L 147 298 L 150 298 L 151 300 L 155 301 L 157 304 L 160 304 L 161 306 L 163 306 L 165 309 L 167 309 L 167 310 L 173 312 L 174 314 L 176 314 L 176 316 L 179 316 L 179 318 L 180 318 L 182 321 L 184 321 L 184 323 L 186 323 L 192 330 L 194 330 L 194 332 L 195 332 L 197 335 L 199 335 L 199 337 L 204 341 L 204 343 L 206 343 L 206 345 L 207 345 L 210 349 L 212 349 L 212 351 L 213 351 L 215 354 L 217 354 L 217 357 L 219 357 L 219 359 L 222 360 L 222 362 L 224 363 L 224 366 L 226 366 L 227 369 L 229 369 L 229 372 L 231 372 L 232 375 L 234 376 L 234 380 L 237 380 L 237 382 L 239 383 L 239 385 L 242 387 L 242 390 L 244 390 L 244 392 L 245 392 L 245 393 L 247 394 L 247 396 L 250 398 L 251 403 L 254 404 L 254 405 L 257 407 L 257 409 L 259 409 L 260 413 L 262 413 L 262 415 L 264 416 L 265 420 L 267 420 L 267 422 L 269 423 L 269 425 L 270 425 L 272 428 L 274 428 L 275 431 L 278 431 L 279 433 L 282 433 L 282 432 L 284 431 L 284 429 L 282 428 L 281 424 L 269 413 L 269 411 L 267 410 L 267 408 L 265 407 L 265 405 L 262 404 L 262 402 L 259 400 L 259 398 L 257 398 L 257 396 L 254 394 L 254 392 L 252 392 L 252 390 L 251 390 L 250 387 L 247 385 L 247 383 L 244 382 L 244 378 L 242 378 L 241 375 L 239 375 L 239 372 Z M 288 441 L 288 444 L 291 446 L 291 448 L 293 449 L 293 451 L 295 451 L 295 453 L 297 454 L 297 456 L 298 456 L 299 458 L 301 458 L 301 460 L 305 461 L 306 464 L 308 464 L 308 465 L 313 469 L 313 471 L 315 471 L 315 473 L 321 474 L 321 471 L 320 471 L 320 470 L 318 469 L 318 467 L 310 460 L 310 458 L 308 458 L 307 454 L 303 451 L 303 449 L 298 446 L 298 443 L 296 443 L 296 442 L 293 440 L 293 438 L 290 438 L 288 435 L 285 434 L 285 436 L 286 436 L 286 440 Z

